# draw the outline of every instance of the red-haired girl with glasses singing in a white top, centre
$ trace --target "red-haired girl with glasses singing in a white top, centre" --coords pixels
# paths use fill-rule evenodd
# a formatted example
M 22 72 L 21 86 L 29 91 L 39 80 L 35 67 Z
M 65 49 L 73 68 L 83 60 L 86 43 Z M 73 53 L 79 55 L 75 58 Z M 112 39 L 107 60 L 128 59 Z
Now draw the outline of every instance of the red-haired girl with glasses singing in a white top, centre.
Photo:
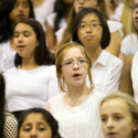
M 62 93 L 44 108 L 59 121 L 63 138 L 103 138 L 98 106 L 104 95 L 95 91 L 91 70 L 91 59 L 81 44 L 66 43 L 57 51 L 56 75 Z

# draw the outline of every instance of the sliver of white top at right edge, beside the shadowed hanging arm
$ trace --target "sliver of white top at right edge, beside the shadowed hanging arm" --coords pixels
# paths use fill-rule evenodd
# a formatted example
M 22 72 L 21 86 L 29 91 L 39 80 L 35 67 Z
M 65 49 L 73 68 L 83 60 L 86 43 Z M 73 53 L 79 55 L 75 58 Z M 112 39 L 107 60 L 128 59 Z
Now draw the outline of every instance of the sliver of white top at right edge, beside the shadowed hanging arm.
M 132 88 L 134 88 L 134 97 L 138 104 L 138 52 L 135 54 L 132 59 L 131 81 L 132 81 Z

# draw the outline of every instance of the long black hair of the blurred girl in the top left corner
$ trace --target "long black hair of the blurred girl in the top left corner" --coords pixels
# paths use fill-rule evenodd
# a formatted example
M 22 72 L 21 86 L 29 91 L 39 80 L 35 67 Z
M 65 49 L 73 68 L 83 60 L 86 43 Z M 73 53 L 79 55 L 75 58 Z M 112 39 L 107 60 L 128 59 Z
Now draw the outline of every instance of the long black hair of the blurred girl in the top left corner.
M 0 42 L 7 42 L 13 35 L 13 30 L 11 28 L 11 21 L 9 19 L 9 13 L 14 7 L 17 0 L 2 0 L 0 4 Z M 30 15 L 29 18 L 34 18 L 33 6 L 31 0 L 29 1 Z

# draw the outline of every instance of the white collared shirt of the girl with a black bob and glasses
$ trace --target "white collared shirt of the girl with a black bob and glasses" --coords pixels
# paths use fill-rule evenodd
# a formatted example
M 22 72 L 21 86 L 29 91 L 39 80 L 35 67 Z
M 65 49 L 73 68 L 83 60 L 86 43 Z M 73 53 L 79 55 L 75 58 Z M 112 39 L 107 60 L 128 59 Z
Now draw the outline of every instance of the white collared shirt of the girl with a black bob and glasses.
M 121 68 L 123 62 L 103 50 L 92 67 L 92 78 L 95 89 L 106 95 L 118 91 Z

